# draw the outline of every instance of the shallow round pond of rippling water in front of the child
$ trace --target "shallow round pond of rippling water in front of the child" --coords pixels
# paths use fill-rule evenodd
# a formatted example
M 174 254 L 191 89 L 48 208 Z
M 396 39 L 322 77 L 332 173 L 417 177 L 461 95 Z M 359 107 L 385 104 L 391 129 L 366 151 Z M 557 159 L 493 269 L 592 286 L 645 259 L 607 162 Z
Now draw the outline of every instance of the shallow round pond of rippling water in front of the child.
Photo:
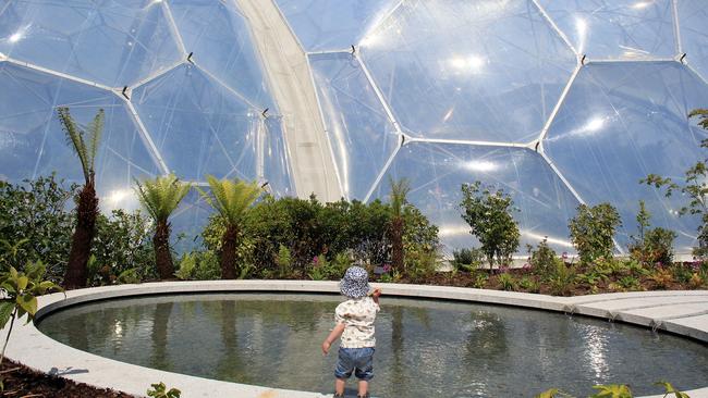
M 338 296 L 210 294 L 100 301 L 50 313 L 46 335 L 123 362 L 268 387 L 331 393 L 320 344 Z M 382 298 L 371 390 L 381 397 L 528 397 L 595 384 L 656 391 L 708 380 L 699 343 L 559 313 Z M 354 387 L 354 383 L 350 384 Z

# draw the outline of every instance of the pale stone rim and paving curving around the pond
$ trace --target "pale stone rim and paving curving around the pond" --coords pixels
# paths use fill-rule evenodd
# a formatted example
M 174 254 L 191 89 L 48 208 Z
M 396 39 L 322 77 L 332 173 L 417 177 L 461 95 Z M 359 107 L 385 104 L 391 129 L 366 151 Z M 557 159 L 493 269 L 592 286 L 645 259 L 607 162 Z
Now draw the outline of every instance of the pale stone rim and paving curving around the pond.
M 708 344 L 708 291 L 622 293 L 581 297 L 551 297 L 524 293 L 481 290 L 399 284 L 374 284 L 384 295 L 454 299 L 483 303 L 542 309 L 626 322 L 689 336 Z M 170 282 L 160 284 L 121 285 L 73 290 L 39 299 L 38 316 L 71 304 L 97 299 L 166 293 L 204 291 L 315 291 L 337 293 L 335 282 L 310 281 L 210 281 Z M 186 376 L 137 366 L 94 356 L 62 345 L 41 334 L 34 324 L 16 324 L 8 357 L 47 373 L 101 387 L 110 387 L 142 396 L 147 386 L 158 381 L 182 390 L 183 398 L 322 398 L 318 393 L 273 389 L 236 383 Z M 4 336 L 4 334 L 3 334 Z M 706 387 L 687 391 L 692 398 L 708 398 Z M 661 397 L 661 396 L 657 396 Z

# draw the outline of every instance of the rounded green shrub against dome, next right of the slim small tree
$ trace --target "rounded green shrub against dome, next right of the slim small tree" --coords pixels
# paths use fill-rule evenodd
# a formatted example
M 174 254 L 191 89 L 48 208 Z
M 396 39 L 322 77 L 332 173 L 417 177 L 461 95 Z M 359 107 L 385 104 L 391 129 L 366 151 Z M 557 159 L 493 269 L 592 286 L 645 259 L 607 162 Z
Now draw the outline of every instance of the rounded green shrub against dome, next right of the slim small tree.
M 595 207 L 581 204 L 569 224 L 571 240 L 583 263 L 612 257 L 614 231 L 622 225 L 620 214 L 610 203 Z

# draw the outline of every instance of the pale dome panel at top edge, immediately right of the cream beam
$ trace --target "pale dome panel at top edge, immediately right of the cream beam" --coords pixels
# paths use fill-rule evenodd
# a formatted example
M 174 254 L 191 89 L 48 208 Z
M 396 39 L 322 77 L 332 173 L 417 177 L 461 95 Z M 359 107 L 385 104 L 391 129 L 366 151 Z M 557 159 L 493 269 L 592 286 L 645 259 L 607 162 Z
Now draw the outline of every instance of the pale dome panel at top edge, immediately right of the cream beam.
M 276 0 L 305 51 L 347 50 L 399 0 Z

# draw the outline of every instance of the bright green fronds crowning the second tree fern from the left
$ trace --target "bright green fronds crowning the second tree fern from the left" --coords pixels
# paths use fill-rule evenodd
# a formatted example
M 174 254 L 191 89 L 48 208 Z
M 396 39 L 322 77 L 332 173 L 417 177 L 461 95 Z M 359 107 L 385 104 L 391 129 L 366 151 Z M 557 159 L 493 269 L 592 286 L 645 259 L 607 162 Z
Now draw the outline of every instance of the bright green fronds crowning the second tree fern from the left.
M 174 174 L 158 176 L 143 184 L 135 182 L 137 199 L 155 222 L 167 222 L 190 189 L 192 185 L 181 183 Z

